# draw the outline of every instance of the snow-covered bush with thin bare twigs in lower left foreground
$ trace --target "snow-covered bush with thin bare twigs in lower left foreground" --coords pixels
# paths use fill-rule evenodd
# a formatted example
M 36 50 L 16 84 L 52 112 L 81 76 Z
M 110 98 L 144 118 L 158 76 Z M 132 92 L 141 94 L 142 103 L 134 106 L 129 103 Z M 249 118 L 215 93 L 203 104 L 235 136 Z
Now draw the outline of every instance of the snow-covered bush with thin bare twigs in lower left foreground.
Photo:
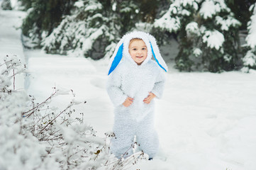
M 145 159 L 143 152 L 129 159 L 111 154 L 113 132 L 97 137 L 84 123 L 84 113 L 72 108 L 85 101 L 73 98 L 64 109 L 50 106 L 53 97 L 74 96 L 74 91 L 54 87 L 52 95 L 36 103 L 26 91 L 11 89 L 9 71 L 26 72 L 16 55 L 6 56 L 0 69 L 0 169 L 127 169 Z

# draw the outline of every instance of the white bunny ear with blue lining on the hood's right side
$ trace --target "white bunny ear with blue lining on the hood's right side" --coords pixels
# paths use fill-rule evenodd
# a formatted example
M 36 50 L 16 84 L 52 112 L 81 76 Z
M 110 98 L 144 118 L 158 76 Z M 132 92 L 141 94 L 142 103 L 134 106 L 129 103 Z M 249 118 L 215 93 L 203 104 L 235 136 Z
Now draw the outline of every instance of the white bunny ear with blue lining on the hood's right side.
M 167 72 L 168 71 L 167 64 L 165 63 L 165 60 L 162 59 L 162 56 L 160 54 L 155 38 L 152 35 L 149 35 L 149 39 L 150 39 L 152 55 L 155 58 L 155 61 L 163 70 L 165 70 L 165 72 Z

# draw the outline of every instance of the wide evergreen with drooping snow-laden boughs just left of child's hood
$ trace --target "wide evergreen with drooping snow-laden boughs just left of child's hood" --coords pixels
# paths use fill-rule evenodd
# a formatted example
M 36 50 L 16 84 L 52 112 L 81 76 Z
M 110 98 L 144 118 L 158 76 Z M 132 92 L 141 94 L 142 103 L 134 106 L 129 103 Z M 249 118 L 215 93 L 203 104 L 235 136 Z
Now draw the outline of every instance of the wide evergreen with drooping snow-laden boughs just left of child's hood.
M 123 33 L 138 21 L 138 6 L 133 1 L 79 0 L 71 14 L 43 40 L 48 53 L 109 57 Z

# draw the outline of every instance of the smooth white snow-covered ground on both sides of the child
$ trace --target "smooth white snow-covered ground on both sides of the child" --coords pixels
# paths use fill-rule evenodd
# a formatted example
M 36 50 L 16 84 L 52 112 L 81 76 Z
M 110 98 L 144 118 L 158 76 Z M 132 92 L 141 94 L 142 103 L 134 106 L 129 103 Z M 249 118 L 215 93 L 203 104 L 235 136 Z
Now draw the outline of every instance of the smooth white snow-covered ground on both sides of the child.
M 6 19 L 6 16 L 10 16 Z M 18 12 L 0 11 L 0 55 L 22 50 L 12 46 L 11 29 Z M 19 35 L 15 35 L 19 38 Z M 108 60 L 93 61 L 72 56 L 47 55 L 40 50 L 25 50 L 30 79 L 28 94 L 38 101 L 50 96 L 52 86 L 72 89 L 84 121 L 99 136 L 111 131 L 113 106 L 105 90 Z M 165 94 L 157 100 L 156 128 L 161 151 L 152 161 L 131 169 L 152 170 L 255 170 L 256 169 L 256 73 L 184 73 L 172 68 L 166 74 Z M 56 97 L 52 103 L 65 108 L 72 96 Z

